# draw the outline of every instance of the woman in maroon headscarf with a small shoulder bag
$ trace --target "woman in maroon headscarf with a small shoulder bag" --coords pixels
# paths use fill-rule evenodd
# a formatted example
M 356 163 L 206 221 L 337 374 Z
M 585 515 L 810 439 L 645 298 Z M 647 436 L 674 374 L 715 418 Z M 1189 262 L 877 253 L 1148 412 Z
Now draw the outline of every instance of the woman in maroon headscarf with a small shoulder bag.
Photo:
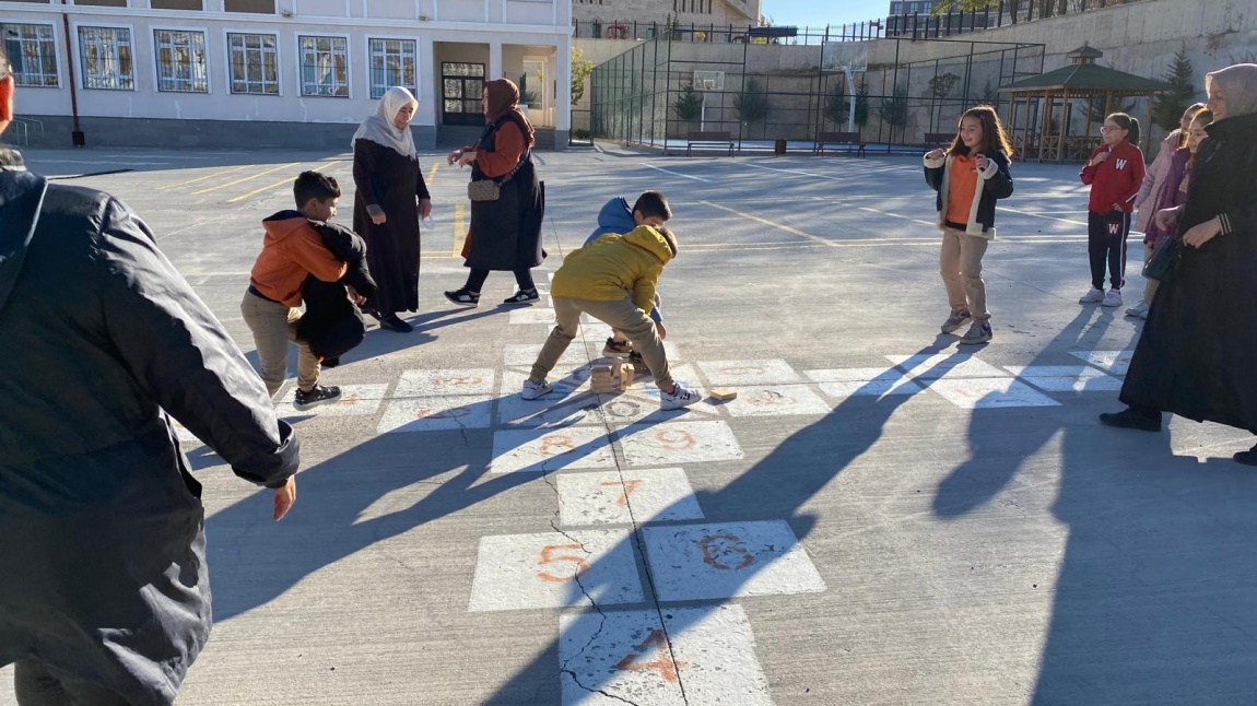
M 471 181 L 491 178 L 502 191 L 497 201 L 471 202 L 471 227 L 463 249 L 471 271 L 466 284 L 446 291 L 445 298 L 475 307 L 489 271 L 508 270 L 515 274 L 519 291 L 503 304 L 532 304 L 538 299 L 532 269 L 546 258 L 546 185 L 537 181 L 533 167 L 533 126 L 519 112 L 519 88 L 508 79 L 484 84 L 480 100 L 489 124 L 474 146 L 450 152 L 447 161 L 471 165 Z

